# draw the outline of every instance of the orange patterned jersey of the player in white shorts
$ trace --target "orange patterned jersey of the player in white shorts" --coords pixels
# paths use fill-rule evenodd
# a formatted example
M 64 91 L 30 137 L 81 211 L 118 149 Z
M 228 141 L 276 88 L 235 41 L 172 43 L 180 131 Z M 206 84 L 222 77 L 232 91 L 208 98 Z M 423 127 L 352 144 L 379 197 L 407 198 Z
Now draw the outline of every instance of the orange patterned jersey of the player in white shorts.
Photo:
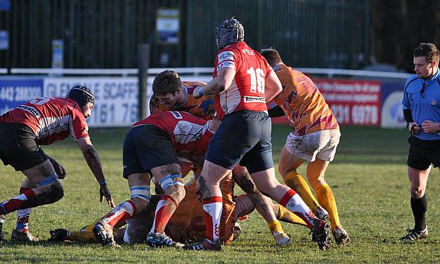
M 283 91 L 275 97 L 286 113 L 295 136 L 325 129 L 339 129 L 333 112 L 309 77 L 285 64 L 274 67 Z

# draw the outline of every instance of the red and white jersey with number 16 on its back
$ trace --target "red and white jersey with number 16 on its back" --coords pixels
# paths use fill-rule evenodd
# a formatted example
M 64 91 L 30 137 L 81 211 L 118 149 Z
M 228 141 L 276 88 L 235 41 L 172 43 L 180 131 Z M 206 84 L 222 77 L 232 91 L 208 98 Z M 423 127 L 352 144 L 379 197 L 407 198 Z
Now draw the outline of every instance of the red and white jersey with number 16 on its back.
M 215 59 L 214 78 L 222 68 L 236 71 L 231 86 L 215 97 L 217 116 L 240 110 L 267 111 L 264 100 L 266 76 L 272 71 L 266 59 L 243 41 L 221 49 Z

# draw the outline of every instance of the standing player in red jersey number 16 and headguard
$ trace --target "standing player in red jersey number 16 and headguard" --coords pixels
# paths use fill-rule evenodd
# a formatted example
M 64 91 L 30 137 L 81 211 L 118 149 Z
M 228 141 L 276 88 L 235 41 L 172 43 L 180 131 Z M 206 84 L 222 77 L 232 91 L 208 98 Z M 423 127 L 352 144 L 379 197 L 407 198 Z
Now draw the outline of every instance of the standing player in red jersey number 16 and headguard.
M 315 217 L 300 196 L 275 177 L 266 102 L 281 92 L 279 79 L 266 59 L 243 41 L 243 25 L 235 18 L 221 21 L 216 28 L 216 40 L 220 51 L 215 60 L 214 78 L 193 92 L 195 97 L 216 95 L 216 113 L 221 119 L 199 177 L 206 212 L 206 239 L 184 248 L 221 249 L 219 232 L 216 232 L 222 210 L 219 184 L 238 163 L 247 168 L 259 191 L 302 217 L 313 230 L 319 248 L 326 248 L 325 221 Z M 269 222 L 269 228 L 276 234 L 281 224 L 274 212 L 271 219 L 274 221 Z

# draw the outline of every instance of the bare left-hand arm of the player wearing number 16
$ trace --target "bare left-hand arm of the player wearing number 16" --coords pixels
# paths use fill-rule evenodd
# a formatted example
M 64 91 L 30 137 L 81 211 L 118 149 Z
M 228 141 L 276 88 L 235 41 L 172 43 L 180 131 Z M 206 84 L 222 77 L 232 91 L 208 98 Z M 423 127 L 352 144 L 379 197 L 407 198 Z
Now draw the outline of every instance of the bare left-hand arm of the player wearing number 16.
M 216 95 L 223 92 L 231 86 L 235 76 L 236 71 L 233 68 L 221 68 L 217 76 L 207 83 L 207 85 L 195 88 L 193 96 L 197 98 L 202 97 L 202 95 Z

